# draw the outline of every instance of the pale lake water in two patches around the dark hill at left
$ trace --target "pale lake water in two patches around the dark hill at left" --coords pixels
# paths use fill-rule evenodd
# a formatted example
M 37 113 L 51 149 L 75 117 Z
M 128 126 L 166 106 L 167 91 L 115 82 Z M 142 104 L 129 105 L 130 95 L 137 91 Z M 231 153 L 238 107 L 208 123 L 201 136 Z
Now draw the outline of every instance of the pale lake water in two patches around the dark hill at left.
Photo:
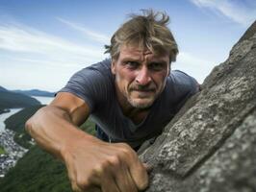
M 40 96 L 32 96 L 32 97 L 36 98 L 42 105 L 48 105 L 54 99 L 54 97 L 40 97 Z M 11 115 L 21 110 L 22 108 L 10 108 L 10 109 L 11 109 L 10 112 L 0 114 L 0 132 L 5 130 L 4 121 Z

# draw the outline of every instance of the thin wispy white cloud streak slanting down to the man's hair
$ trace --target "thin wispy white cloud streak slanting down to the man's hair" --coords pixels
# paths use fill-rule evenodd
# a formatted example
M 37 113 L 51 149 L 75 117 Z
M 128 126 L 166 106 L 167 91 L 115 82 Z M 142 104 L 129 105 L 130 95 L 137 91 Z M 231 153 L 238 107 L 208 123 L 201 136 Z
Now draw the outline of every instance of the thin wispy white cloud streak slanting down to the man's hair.
M 83 27 L 81 24 L 70 22 L 70 21 L 60 18 L 60 17 L 58 17 L 57 19 L 59 21 L 61 21 L 62 23 L 64 23 L 65 25 L 67 25 L 68 27 L 83 33 L 85 35 L 85 37 L 90 38 L 94 41 L 105 43 L 105 44 L 109 43 L 109 41 L 110 41 L 110 36 L 99 34 L 97 32 L 92 32 L 91 30 Z

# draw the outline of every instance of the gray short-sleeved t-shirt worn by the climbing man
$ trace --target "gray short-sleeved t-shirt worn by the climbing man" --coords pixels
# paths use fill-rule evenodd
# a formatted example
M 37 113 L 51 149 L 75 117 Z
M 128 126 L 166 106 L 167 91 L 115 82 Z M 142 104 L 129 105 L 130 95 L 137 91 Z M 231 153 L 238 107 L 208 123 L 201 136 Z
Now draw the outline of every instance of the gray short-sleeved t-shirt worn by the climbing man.
M 60 90 L 85 100 L 90 107 L 90 118 L 112 141 L 126 142 L 132 147 L 160 134 L 196 91 L 197 83 L 192 77 L 181 71 L 171 71 L 164 91 L 150 108 L 147 117 L 139 125 L 135 125 L 123 115 L 118 105 L 111 60 L 103 60 L 75 73 Z

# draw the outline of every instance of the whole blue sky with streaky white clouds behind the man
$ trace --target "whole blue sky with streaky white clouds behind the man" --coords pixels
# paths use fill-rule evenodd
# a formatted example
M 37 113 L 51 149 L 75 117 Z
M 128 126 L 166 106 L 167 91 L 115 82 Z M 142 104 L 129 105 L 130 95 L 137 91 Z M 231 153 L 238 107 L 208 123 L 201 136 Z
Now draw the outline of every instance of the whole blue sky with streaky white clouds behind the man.
M 143 9 L 170 16 L 179 47 L 171 68 L 200 84 L 256 20 L 255 0 L 0 0 L 0 85 L 58 91 L 109 58 L 104 45 Z

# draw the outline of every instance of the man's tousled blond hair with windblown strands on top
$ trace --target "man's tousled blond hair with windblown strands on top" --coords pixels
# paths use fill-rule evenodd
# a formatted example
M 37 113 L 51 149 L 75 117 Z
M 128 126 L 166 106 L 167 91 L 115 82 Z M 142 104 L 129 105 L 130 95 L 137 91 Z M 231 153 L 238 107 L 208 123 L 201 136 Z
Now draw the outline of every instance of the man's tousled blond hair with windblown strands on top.
M 142 14 L 131 14 L 131 19 L 121 25 L 111 38 L 111 45 L 105 45 L 112 59 L 117 59 L 121 45 L 137 45 L 154 54 L 166 53 L 170 61 L 178 54 L 177 43 L 167 28 L 169 16 L 166 12 L 142 10 Z

